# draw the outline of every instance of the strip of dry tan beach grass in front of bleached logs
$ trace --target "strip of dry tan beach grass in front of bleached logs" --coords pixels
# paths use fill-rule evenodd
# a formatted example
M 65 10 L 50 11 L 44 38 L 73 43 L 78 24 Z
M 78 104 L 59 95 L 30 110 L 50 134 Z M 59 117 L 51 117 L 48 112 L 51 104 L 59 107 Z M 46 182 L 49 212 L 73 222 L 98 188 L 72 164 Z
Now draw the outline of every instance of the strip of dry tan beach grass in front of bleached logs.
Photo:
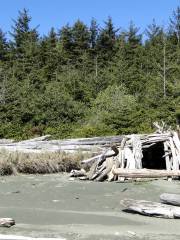
M 82 152 L 22 153 L 1 150 L 0 175 L 70 172 L 72 169 L 80 168 L 80 161 L 90 156 L 91 154 Z

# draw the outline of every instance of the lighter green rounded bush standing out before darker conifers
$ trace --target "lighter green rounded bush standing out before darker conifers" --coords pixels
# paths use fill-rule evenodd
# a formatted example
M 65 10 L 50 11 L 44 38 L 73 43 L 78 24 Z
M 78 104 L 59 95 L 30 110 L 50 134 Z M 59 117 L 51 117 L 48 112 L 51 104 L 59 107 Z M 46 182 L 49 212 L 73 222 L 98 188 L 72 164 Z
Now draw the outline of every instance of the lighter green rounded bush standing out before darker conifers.
M 136 111 L 136 99 L 127 94 L 124 86 L 108 86 L 97 95 L 89 113 L 89 124 L 104 125 L 118 134 L 130 132 L 131 117 Z

